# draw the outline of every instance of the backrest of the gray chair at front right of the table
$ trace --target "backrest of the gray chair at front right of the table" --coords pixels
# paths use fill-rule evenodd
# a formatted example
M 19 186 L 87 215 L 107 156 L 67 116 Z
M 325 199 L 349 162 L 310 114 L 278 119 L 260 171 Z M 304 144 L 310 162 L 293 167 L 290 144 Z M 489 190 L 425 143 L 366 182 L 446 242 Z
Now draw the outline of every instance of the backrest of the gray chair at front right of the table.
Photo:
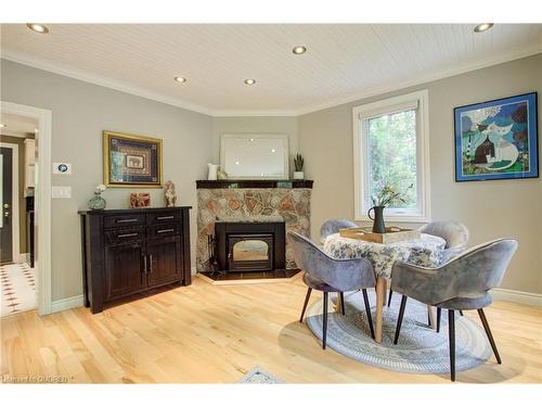
M 517 240 L 499 239 L 475 246 L 438 268 L 435 294 L 441 301 L 479 297 L 501 285 L 518 246 Z

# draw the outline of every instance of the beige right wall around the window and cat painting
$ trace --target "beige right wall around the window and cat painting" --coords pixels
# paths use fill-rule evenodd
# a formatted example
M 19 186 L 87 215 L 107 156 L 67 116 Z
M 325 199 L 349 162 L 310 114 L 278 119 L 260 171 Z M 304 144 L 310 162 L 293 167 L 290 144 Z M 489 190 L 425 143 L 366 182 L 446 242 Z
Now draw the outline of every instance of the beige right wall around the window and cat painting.
M 454 182 L 453 137 L 455 106 L 532 91 L 542 94 L 542 54 L 300 116 L 299 149 L 307 176 L 315 181 L 313 238 L 325 219 L 354 216 L 352 107 L 420 89 L 429 91 L 433 218 L 467 225 L 473 245 L 501 237 L 518 239 L 503 288 L 542 293 L 541 180 Z

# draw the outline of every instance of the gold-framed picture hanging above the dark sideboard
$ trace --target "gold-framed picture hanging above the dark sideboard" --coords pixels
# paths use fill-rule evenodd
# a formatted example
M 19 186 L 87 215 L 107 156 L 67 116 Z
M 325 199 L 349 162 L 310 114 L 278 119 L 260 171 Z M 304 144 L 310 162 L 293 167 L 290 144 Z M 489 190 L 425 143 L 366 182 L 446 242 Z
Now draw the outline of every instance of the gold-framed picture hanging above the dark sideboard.
M 162 140 L 104 131 L 103 149 L 107 187 L 162 187 Z

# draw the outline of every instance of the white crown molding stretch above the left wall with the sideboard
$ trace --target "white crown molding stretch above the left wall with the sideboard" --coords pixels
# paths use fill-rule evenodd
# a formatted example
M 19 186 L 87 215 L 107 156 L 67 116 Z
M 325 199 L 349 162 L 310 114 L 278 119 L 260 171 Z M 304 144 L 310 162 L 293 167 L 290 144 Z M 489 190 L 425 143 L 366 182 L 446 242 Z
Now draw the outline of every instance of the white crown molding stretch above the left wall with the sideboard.
M 172 106 L 185 109 L 192 112 L 202 113 L 208 116 L 212 116 L 212 111 L 210 109 L 201 106 L 198 104 L 190 103 L 183 101 L 181 99 L 176 99 L 171 97 L 167 97 L 160 93 L 153 92 L 151 90 L 146 90 L 140 87 L 136 87 L 119 80 L 109 79 L 100 75 L 90 74 L 85 71 L 74 69 L 66 66 L 61 66 L 60 64 L 46 62 L 41 59 L 37 59 L 34 56 L 29 56 L 27 54 L 22 54 L 18 52 L 13 52 L 7 49 L 2 49 L 1 58 L 3 60 L 9 60 L 12 62 L 16 62 L 18 64 L 27 65 L 30 67 L 35 67 L 38 69 L 51 72 L 53 74 L 67 76 L 69 78 L 82 80 L 92 85 L 102 86 L 104 88 L 109 88 L 114 90 L 118 90 L 120 92 L 133 94 L 140 98 L 150 99 L 156 102 L 169 104 Z

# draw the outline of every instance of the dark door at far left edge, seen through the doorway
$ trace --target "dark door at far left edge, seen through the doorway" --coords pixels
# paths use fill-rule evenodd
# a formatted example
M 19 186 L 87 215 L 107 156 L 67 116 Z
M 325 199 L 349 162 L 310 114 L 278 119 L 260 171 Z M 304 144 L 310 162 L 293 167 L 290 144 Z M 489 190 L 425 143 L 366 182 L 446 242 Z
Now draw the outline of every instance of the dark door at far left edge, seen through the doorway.
M 0 162 L 2 170 L 2 215 L 0 219 L 0 263 L 13 262 L 13 150 L 0 148 Z

